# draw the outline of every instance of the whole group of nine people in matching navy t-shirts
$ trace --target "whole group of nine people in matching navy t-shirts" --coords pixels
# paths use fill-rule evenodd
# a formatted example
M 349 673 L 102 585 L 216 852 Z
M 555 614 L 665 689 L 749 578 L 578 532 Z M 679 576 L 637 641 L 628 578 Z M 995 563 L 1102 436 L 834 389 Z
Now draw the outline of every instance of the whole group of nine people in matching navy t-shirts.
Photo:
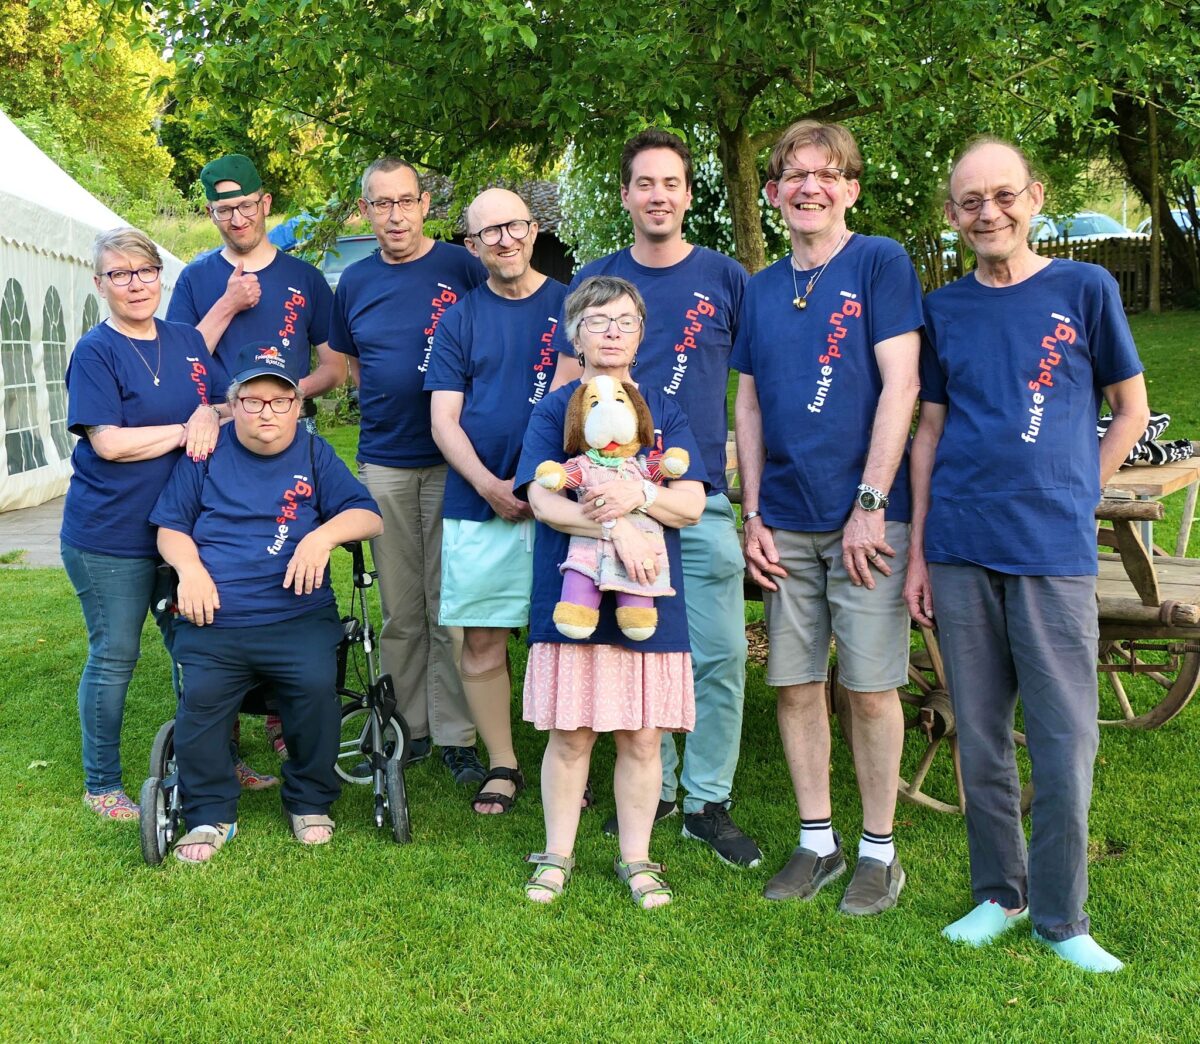
M 691 157 L 658 130 L 622 155 L 632 245 L 570 287 L 533 268 L 538 223 L 508 190 L 472 202 L 464 247 L 427 236 L 428 193 L 395 157 L 361 180 L 379 250 L 332 299 L 266 240 L 270 196 L 246 157 L 202 175 L 224 248 L 185 270 L 168 322 L 154 318 L 154 245 L 132 230 L 102 236 L 96 282 L 112 314 L 68 371 L 80 442 L 62 530 L 90 638 L 85 802 L 138 814 L 121 788 L 121 704 L 161 554 L 182 614 L 160 622 L 181 676 L 190 833 L 178 853 L 211 858 L 235 829 L 239 779 L 272 782 L 229 743 L 256 678 L 277 692 L 293 830 L 328 841 L 325 563 L 337 541 L 370 538 L 410 761 L 437 746 L 476 787 L 476 812 L 514 808 L 526 778 L 506 648 L 527 626 L 523 716 L 548 739 L 546 846 L 529 856 L 526 894 L 552 902 L 566 887 L 593 803 L 590 752 L 612 733 L 614 870 L 638 906 L 662 906 L 672 890 L 650 835 L 679 812 L 680 790 L 684 836 L 734 866 L 763 858 L 730 814 L 749 572 L 763 589 L 767 680 L 799 811 L 796 848 L 764 896 L 811 899 L 847 869 L 829 790 L 836 636 L 863 805 L 839 908 L 896 904 L 896 689 L 912 617 L 937 628 L 966 796 L 976 906 L 944 934 L 983 946 L 1028 919 L 1064 960 L 1118 970 L 1084 912 L 1092 511 L 1148 416 L 1117 287 L 1030 247 L 1044 186 L 1019 148 L 979 138 L 954 162 L 944 204 L 977 268 L 923 299 L 898 242 L 848 227 L 862 168 L 846 128 L 787 128 L 766 193 L 791 251 L 752 278 L 685 240 Z M 360 392 L 358 480 L 299 426 L 304 400 L 344 378 L 342 356 Z M 725 487 L 731 370 L 742 541 Z M 1102 401 L 1112 420 L 1098 443 Z M 546 482 L 547 470 L 571 481 Z M 649 616 L 631 607 L 646 605 Z M 1028 851 L 1018 695 L 1033 764 Z

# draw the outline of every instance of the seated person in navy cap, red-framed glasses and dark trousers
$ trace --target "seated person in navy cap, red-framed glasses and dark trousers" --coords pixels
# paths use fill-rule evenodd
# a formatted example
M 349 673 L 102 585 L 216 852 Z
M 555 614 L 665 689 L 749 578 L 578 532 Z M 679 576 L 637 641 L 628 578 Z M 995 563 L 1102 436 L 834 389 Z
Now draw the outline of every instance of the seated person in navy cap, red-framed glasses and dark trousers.
M 342 624 L 329 556 L 378 536 L 383 522 L 334 449 L 299 426 L 299 382 L 278 348 L 244 348 L 228 390 L 233 424 L 208 461 L 180 462 L 150 515 L 158 552 L 179 575 L 175 757 L 188 833 L 175 856 L 186 863 L 208 862 L 236 832 L 229 739 L 257 682 L 280 702 L 293 834 L 322 845 L 334 832 Z

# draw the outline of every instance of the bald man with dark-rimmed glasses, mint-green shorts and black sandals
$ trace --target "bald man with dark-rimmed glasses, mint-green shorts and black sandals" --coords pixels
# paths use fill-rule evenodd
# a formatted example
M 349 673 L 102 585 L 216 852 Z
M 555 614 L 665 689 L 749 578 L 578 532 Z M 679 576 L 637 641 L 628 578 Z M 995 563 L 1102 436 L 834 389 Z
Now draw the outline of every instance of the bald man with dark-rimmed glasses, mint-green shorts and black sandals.
M 467 250 L 487 282 L 433 336 L 425 390 L 446 461 L 439 622 L 463 629 L 462 685 L 487 745 L 488 774 L 472 808 L 509 811 L 524 778 L 512 750 L 508 638 L 529 623 L 533 518 L 512 491 L 529 413 L 550 390 L 551 347 L 566 287 L 530 266 L 538 239 L 526 202 L 505 188 L 467 208 Z

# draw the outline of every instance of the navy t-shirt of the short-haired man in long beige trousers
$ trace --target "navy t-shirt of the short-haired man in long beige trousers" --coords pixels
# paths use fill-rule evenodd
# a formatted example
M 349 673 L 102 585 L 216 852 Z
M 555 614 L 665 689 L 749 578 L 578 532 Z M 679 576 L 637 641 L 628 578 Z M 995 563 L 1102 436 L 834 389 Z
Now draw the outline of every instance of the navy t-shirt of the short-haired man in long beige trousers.
M 449 242 L 434 242 L 424 257 L 398 265 L 376 251 L 342 272 L 329 343 L 359 360 L 360 462 L 443 463 L 425 391 L 433 335 L 446 311 L 486 280 L 487 269 Z

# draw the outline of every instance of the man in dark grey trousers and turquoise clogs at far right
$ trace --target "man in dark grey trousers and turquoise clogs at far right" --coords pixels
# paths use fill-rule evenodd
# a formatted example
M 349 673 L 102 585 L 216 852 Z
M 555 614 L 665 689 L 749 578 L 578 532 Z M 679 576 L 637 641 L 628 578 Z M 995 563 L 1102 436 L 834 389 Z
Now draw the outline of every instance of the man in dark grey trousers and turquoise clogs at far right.
M 1099 743 L 1096 504 L 1146 430 L 1146 385 L 1116 281 L 1039 257 L 1045 188 L 1028 157 L 971 142 L 946 217 L 976 270 L 925 300 L 905 596 L 937 622 L 954 701 L 976 907 L 942 930 L 985 946 L 1021 922 L 1088 972 L 1087 812 Z M 1112 409 L 1096 438 L 1100 402 Z M 1033 767 L 1026 847 L 1013 749 L 1020 694 Z

